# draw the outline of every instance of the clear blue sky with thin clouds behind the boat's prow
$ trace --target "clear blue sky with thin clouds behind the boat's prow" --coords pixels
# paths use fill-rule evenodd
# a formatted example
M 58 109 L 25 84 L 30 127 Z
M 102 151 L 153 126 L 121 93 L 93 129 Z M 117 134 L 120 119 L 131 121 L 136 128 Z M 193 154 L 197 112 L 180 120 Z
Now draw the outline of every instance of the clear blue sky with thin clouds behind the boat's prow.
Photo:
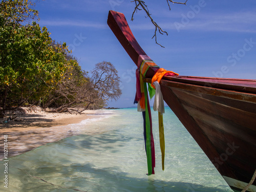
M 256 79 L 256 1 L 194 1 L 172 5 L 144 1 L 152 17 L 168 32 L 151 39 L 154 26 L 140 11 L 131 21 L 135 4 L 124 0 L 45 0 L 36 3 L 40 26 L 51 37 L 67 42 L 83 70 L 111 62 L 122 80 L 122 96 L 109 106 L 133 106 L 135 70 L 106 19 L 109 10 L 122 12 L 142 49 L 166 70 L 180 75 Z

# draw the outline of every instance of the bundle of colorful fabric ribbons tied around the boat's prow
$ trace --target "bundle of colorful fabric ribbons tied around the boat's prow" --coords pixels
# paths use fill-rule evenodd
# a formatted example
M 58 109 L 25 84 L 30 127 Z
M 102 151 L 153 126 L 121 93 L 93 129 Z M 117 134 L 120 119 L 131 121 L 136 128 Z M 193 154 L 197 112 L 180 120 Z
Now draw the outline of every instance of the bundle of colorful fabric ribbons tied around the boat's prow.
M 146 82 L 143 82 L 143 77 L 146 75 L 147 70 L 150 67 L 158 67 L 156 63 L 147 55 L 139 55 L 138 69 L 136 70 L 136 96 L 135 103 L 138 103 L 138 111 L 142 112 L 143 116 L 143 129 L 144 129 L 144 141 L 147 157 L 147 170 L 148 175 L 155 174 L 155 144 L 152 131 L 152 117 L 150 110 L 150 102 L 147 94 Z M 158 67 L 159 68 L 159 67 Z M 179 75 L 172 71 L 166 71 L 163 68 L 157 70 L 156 74 L 152 78 L 152 83 L 148 83 L 148 91 L 150 92 L 150 98 L 155 95 L 155 101 L 153 109 L 158 111 L 159 119 L 159 138 L 160 148 L 162 153 L 162 169 L 164 170 L 164 156 L 165 156 L 165 145 L 164 145 L 164 127 L 163 127 L 163 113 L 164 113 L 164 102 L 160 88 L 160 80 L 164 75 Z

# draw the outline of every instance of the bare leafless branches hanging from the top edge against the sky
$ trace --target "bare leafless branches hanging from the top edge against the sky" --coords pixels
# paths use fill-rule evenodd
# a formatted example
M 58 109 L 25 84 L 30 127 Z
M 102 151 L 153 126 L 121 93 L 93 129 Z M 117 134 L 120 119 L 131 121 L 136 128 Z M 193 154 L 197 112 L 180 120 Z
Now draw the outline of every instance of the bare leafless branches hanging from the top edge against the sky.
M 149 17 L 149 18 L 151 19 L 151 23 L 155 26 L 155 34 L 154 34 L 154 36 L 153 36 L 152 38 L 155 37 L 156 44 L 157 44 L 157 45 L 160 45 L 160 44 L 157 42 L 157 31 L 158 31 L 160 34 L 162 34 L 162 35 L 163 35 L 164 33 L 165 33 L 166 35 L 168 35 L 168 33 L 167 33 L 166 31 L 162 30 L 162 28 L 161 28 L 160 26 L 158 26 L 158 24 L 154 21 L 154 19 L 153 19 L 152 16 L 151 16 L 151 13 L 150 13 L 150 11 L 148 10 L 147 5 L 146 5 L 146 3 L 145 3 L 144 1 L 141 1 L 141 0 L 134 0 L 134 1 L 132 1 L 132 2 L 135 3 L 135 9 L 134 9 L 134 12 L 133 12 L 133 14 L 132 14 L 132 19 L 131 19 L 131 20 L 134 20 L 134 13 L 135 13 L 135 12 L 137 12 L 138 10 L 139 10 L 139 11 L 144 10 L 145 13 L 146 13 L 146 15 L 147 15 L 147 17 Z M 186 0 L 184 3 L 182 3 L 182 2 L 174 2 L 174 1 L 172 1 L 172 0 L 166 0 L 166 2 L 167 2 L 167 4 L 168 4 L 169 10 L 170 10 L 170 4 L 169 4 L 169 3 L 186 5 L 187 0 Z M 160 46 L 163 47 L 162 45 L 160 45 Z

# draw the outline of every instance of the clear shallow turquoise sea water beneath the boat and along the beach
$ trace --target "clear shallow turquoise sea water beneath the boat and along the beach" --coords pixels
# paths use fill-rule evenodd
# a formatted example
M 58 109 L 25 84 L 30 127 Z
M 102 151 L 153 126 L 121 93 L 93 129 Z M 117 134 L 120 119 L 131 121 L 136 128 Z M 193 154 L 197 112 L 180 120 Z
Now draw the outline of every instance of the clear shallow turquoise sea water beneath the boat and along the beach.
M 164 114 L 164 171 L 157 112 L 152 112 L 156 168 L 151 176 L 146 175 L 142 114 L 118 109 L 103 115 L 106 118 L 73 124 L 79 135 L 9 158 L 8 188 L 1 182 L 0 190 L 232 191 L 171 110 L 166 108 Z

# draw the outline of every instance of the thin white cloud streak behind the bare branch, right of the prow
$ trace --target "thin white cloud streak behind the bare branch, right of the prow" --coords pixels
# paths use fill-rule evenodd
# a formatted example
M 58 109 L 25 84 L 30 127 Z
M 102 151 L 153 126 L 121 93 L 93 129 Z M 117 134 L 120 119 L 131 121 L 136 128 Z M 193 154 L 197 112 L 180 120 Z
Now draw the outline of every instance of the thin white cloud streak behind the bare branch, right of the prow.
M 163 30 L 177 30 L 176 26 L 180 26 L 179 30 L 194 31 L 226 31 L 226 32 L 256 32 L 256 12 L 237 12 L 237 13 L 198 13 L 193 18 L 188 18 L 186 13 L 177 17 L 172 13 L 173 17 L 162 18 L 161 22 L 157 22 Z M 174 16 L 175 15 L 175 16 Z M 131 28 L 134 30 L 152 30 L 155 29 L 153 24 L 145 18 L 143 24 L 133 24 Z M 156 19 L 160 20 L 159 18 Z

